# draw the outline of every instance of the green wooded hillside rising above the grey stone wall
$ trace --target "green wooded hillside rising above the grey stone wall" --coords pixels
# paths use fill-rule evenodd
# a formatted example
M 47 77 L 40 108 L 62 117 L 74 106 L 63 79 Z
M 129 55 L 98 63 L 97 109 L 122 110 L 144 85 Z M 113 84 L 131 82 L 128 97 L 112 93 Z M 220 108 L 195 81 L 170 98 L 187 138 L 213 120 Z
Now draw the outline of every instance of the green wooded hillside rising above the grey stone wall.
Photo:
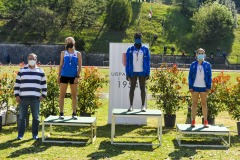
M 78 36 L 81 39 L 77 43 L 79 44 L 77 46 L 78 50 L 84 49 L 85 52 L 89 53 L 108 53 L 109 42 L 130 43 L 133 40 L 132 35 L 140 31 L 143 34 L 143 42 L 150 44 L 152 54 L 163 54 L 163 46 L 174 46 L 176 48 L 175 54 L 180 54 L 182 50 L 185 50 L 187 55 L 192 55 L 192 52 L 199 47 L 206 49 L 209 54 L 218 47 L 223 48 L 222 46 L 228 53 L 237 54 L 239 47 L 235 43 L 239 41 L 238 28 L 234 28 L 235 36 L 232 34 L 230 38 L 227 38 L 227 41 L 226 38 L 220 37 L 223 40 L 216 42 L 216 45 L 198 41 L 199 38 L 193 36 L 192 24 L 194 21 L 191 21 L 193 13 L 198 10 L 198 4 L 190 7 L 195 3 L 195 0 L 175 0 L 175 2 L 177 1 L 186 2 L 183 6 L 186 8 L 186 12 L 182 9 L 181 3 L 178 3 L 177 6 L 176 3 L 172 3 L 174 0 L 155 1 L 172 5 L 139 3 L 136 0 L 129 1 L 128 3 L 131 3 L 130 8 L 132 8 L 132 18 L 129 23 L 124 22 L 125 27 L 127 27 L 126 30 L 119 29 L 116 31 L 116 29 L 109 28 L 110 25 L 106 25 L 106 22 L 117 22 L 117 28 L 124 28 L 120 23 L 125 16 L 126 7 L 123 10 L 118 9 L 122 6 L 117 6 L 116 11 L 112 14 L 114 21 L 110 20 L 111 17 L 108 17 L 109 12 L 106 12 L 106 10 L 111 10 L 109 7 L 107 8 L 107 4 L 112 4 L 114 0 L 1 0 L 0 42 L 59 44 L 68 36 Z M 214 1 L 220 2 L 220 0 Z M 224 2 L 227 1 L 230 0 L 224 0 Z M 202 2 L 204 4 L 207 0 Z M 42 23 L 36 22 L 39 21 L 38 14 L 29 18 L 31 21 L 28 21 L 28 25 L 22 24 L 26 14 L 32 8 L 39 6 L 46 8 L 54 15 L 53 23 L 50 21 L 47 28 L 45 27 L 46 33 L 43 29 L 45 24 L 42 26 Z M 230 8 L 227 8 L 231 10 L 231 5 L 225 6 L 230 6 Z M 151 20 L 148 17 L 150 8 L 153 10 Z M 235 11 L 231 10 L 232 15 L 235 15 Z M 49 18 L 47 17 L 44 23 Z M 164 22 L 163 25 L 162 22 Z M 31 23 L 38 24 L 39 28 L 33 29 Z M 235 21 L 235 26 L 236 24 Z M 156 40 L 154 40 L 154 35 L 158 36 Z M 216 38 L 220 40 L 218 37 Z M 168 51 L 167 54 L 170 53 L 170 50 Z

